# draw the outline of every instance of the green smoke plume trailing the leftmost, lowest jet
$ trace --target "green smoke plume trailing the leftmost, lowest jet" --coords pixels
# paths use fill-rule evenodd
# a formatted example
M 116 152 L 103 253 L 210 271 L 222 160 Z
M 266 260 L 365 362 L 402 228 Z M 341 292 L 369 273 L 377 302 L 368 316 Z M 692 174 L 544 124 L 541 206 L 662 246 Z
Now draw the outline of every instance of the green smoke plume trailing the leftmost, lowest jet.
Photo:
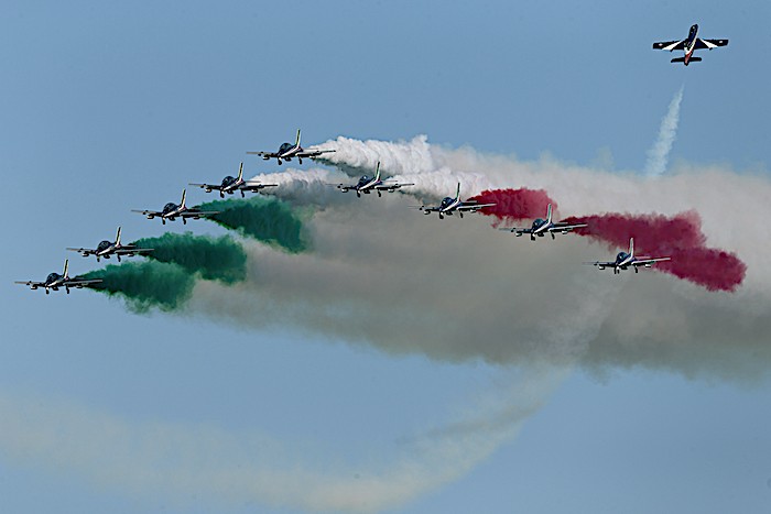
M 151 307 L 164 311 L 180 308 L 193 294 L 195 278 L 184 267 L 158 261 L 110 264 L 104 270 L 86 273 L 84 278 L 101 278 L 88 287 L 121 296 L 135 313 Z

